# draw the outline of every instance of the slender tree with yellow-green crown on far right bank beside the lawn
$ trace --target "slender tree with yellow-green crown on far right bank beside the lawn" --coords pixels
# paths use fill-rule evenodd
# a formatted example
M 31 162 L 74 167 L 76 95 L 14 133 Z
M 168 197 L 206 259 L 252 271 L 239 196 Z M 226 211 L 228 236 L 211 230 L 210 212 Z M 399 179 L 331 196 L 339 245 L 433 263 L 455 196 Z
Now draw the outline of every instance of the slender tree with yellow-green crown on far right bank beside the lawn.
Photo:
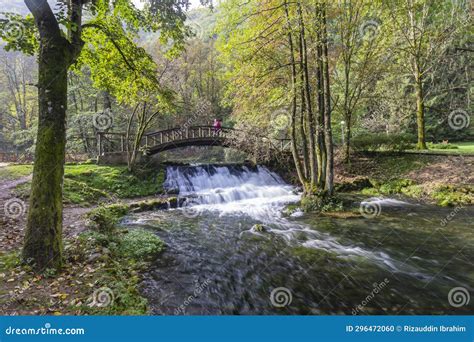
M 426 149 L 426 83 L 444 56 L 444 51 L 464 27 L 462 7 L 453 1 L 387 1 L 395 48 L 414 80 L 418 149 Z

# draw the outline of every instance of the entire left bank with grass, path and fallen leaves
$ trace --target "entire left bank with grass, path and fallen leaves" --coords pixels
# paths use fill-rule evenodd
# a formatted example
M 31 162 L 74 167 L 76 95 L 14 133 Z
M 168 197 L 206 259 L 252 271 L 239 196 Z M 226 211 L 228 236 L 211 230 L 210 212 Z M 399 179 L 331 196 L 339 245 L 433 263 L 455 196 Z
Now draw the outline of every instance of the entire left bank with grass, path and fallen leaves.
M 155 199 L 164 197 L 164 170 L 130 174 L 120 166 L 67 165 L 64 267 L 39 273 L 20 260 L 31 171 L 32 165 L 0 168 L 0 313 L 146 314 L 147 302 L 138 290 L 140 273 L 164 246 L 154 234 L 120 228 L 117 223 L 128 210 L 173 203 Z M 147 197 L 154 199 L 140 200 Z M 8 213 L 3 211 L 7 206 Z

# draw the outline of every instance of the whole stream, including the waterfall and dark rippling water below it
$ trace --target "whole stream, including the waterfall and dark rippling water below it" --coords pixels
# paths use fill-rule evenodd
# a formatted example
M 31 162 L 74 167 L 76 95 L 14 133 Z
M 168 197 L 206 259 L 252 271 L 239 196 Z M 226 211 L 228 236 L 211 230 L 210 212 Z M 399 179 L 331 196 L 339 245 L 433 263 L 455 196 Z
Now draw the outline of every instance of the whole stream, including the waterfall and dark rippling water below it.
M 290 216 L 300 195 L 261 166 L 170 166 L 165 187 L 181 208 L 122 222 L 167 245 L 141 284 L 152 314 L 474 313 L 473 207 L 377 198 L 373 217 Z

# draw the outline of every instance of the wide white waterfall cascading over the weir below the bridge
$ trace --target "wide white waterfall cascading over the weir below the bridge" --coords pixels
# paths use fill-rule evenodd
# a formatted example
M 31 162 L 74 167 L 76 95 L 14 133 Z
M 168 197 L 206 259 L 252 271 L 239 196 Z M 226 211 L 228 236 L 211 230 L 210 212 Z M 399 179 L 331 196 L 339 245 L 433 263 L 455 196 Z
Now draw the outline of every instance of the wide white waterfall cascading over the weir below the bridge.
M 285 204 L 300 198 L 293 186 L 263 166 L 169 166 L 166 175 L 165 189 L 221 214 L 243 212 L 262 219 L 262 214 L 279 215 Z

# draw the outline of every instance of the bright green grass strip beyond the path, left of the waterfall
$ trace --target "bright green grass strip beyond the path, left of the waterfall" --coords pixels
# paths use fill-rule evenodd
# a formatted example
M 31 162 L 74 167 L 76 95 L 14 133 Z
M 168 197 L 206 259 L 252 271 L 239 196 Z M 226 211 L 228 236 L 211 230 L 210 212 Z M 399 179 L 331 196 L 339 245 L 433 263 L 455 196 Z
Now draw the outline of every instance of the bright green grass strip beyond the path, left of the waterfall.
M 0 175 L 15 179 L 30 174 L 31 165 L 9 165 Z M 95 164 L 66 165 L 64 169 L 64 203 L 91 205 L 101 199 L 151 196 L 163 191 L 165 172 L 162 168 L 128 172 L 125 166 Z M 26 199 L 31 182 L 18 185 L 15 196 Z

